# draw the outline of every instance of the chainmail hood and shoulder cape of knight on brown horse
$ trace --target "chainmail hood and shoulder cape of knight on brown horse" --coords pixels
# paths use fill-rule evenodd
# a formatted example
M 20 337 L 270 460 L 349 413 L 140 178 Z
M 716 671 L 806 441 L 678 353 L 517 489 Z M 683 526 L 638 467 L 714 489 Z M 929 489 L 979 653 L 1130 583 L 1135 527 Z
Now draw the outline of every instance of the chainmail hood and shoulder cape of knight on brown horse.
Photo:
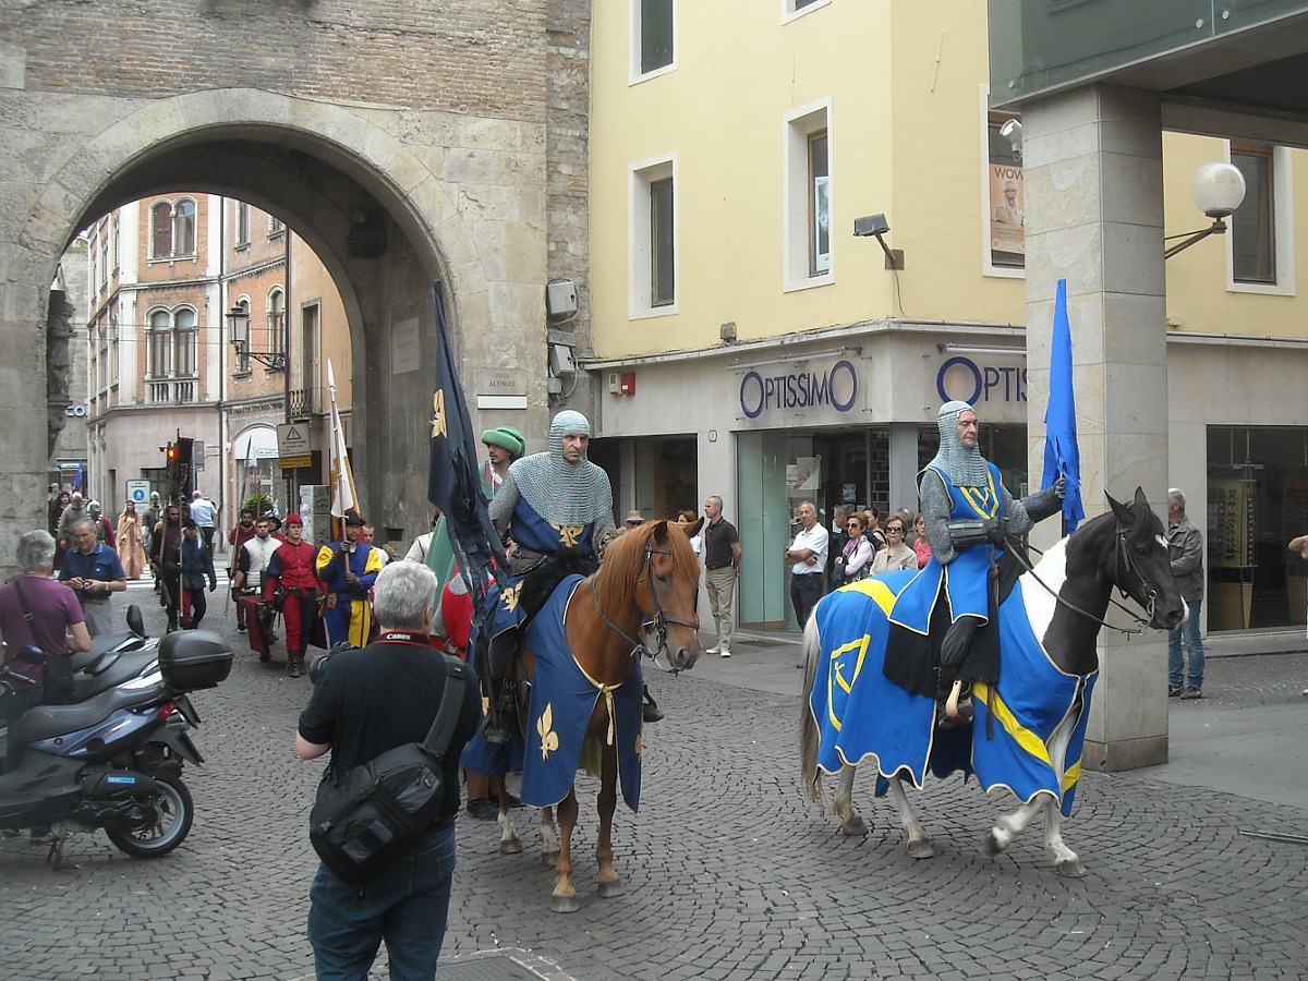
M 613 490 L 608 473 L 586 454 L 577 464 L 564 459 L 564 437 L 590 437 L 590 422 L 581 412 L 564 409 L 549 424 L 549 450 L 514 460 L 509 467 L 518 492 L 545 521 L 553 525 L 589 525 L 612 521 Z

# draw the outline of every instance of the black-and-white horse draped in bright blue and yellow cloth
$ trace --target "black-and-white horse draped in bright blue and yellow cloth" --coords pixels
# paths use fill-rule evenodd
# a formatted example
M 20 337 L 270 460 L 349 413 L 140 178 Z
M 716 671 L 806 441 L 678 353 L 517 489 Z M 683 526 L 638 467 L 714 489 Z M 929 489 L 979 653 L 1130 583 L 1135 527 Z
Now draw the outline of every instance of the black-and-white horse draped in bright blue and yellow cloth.
M 818 604 L 804 629 L 803 780 L 820 800 L 823 773 L 840 774 L 832 811 L 845 833 L 867 833 L 852 791 L 855 766 L 870 760 L 888 782 L 909 854 L 930 858 L 935 846 L 909 804 L 904 777 L 921 787 L 927 769 L 937 776 L 974 770 L 986 791 L 1006 787 L 1023 802 L 990 828 L 989 854 L 1003 852 L 1042 818 L 1045 850 L 1058 874 L 1086 874 L 1063 844 L 1061 825 L 1080 774 L 1099 672 L 1096 637 L 1112 591 L 1146 611 L 1147 620 L 1137 617 L 1141 624 L 1172 629 L 1185 617 L 1163 523 L 1143 492 L 1137 489 L 1130 505 L 1108 501 L 1108 513 L 1050 548 L 1003 600 L 999 679 L 976 687 L 971 727 L 942 732 L 934 698 L 912 695 L 882 674 L 887 612 L 912 573 L 897 581 L 874 577 Z

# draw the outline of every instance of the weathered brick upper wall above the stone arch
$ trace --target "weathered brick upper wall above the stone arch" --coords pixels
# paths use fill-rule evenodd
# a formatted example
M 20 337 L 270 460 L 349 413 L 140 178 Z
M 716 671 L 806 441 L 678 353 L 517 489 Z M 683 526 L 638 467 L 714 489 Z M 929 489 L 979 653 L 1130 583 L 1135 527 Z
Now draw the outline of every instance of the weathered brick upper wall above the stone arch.
M 542 120 L 547 0 L 47 0 L 0 12 L 29 90 L 158 98 L 254 88 Z M 562 13 L 561 13 L 562 12 Z M 589 17 L 587 17 L 589 20 Z M 88 59 L 86 52 L 98 52 Z

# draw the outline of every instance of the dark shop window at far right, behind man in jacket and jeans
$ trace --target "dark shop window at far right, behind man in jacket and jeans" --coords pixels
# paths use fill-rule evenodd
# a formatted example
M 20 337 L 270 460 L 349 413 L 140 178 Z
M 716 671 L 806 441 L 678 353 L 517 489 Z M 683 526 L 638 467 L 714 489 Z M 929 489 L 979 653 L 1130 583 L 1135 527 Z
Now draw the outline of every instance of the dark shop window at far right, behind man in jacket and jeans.
M 1209 630 L 1301 625 L 1308 562 L 1286 545 L 1308 534 L 1308 430 L 1209 426 L 1207 459 Z

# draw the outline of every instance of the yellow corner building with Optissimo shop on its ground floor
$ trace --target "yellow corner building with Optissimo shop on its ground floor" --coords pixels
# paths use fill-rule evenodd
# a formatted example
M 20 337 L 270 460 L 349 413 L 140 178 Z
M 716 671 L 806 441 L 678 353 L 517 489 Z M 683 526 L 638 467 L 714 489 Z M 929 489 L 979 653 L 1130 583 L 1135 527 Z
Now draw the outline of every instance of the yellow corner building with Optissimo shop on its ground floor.
M 799 501 L 828 525 L 840 504 L 914 508 L 942 402 L 976 404 L 1015 494 L 1039 487 L 1020 116 L 988 109 L 984 4 L 629 0 L 594 5 L 593 42 L 583 366 L 619 511 L 722 496 L 744 545 L 740 621 L 778 627 Z M 1303 624 L 1284 543 L 1308 528 L 1308 160 L 1162 139 L 1168 235 L 1211 224 L 1190 200 L 1199 164 L 1249 178 L 1231 234 L 1167 263 L 1168 480 L 1216 540 L 1214 600 L 1239 594 L 1209 628 Z M 1086 488 L 1088 511 L 1103 490 Z

